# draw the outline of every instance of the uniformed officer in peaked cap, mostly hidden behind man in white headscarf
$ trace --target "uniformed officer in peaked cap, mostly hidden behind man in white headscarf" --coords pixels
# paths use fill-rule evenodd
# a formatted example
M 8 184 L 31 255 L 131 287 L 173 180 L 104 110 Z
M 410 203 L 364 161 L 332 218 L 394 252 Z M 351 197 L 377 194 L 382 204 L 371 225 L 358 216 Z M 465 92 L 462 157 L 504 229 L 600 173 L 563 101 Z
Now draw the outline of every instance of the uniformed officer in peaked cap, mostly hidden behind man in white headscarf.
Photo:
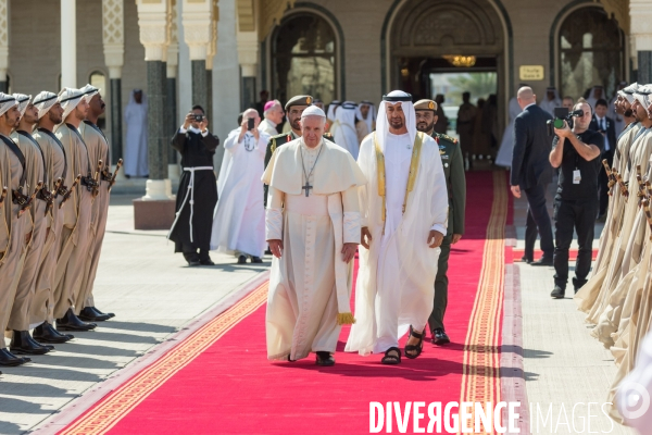
M 448 261 L 451 245 L 456 244 L 464 234 L 464 210 L 466 208 L 466 178 L 464 176 L 464 157 L 457 139 L 436 133 L 437 103 L 432 100 L 419 100 L 414 103 L 416 113 L 416 129 L 426 133 L 439 145 L 439 154 L 443 165 L 446 186 L 449 194 L 448 232 L 441 243 L 441 253 L 437 264 L 435 277 L 435 304 L 428 319 L 432 335 L 432 344 L 446 345 L 450 343 L 443 327 L 443 314 L 448 304 Z

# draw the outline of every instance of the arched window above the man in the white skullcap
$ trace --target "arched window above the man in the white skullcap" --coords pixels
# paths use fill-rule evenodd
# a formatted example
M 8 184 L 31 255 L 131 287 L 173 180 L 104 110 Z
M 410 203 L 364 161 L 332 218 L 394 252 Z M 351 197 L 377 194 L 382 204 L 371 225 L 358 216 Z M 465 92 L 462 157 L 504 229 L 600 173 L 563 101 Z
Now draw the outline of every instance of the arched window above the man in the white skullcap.
M 287 15 L 272 35 L 272 92 L 287 101 L 311 95 L 324 101 L 337 98 L 338 37 L 319 14 L 298 11 Z

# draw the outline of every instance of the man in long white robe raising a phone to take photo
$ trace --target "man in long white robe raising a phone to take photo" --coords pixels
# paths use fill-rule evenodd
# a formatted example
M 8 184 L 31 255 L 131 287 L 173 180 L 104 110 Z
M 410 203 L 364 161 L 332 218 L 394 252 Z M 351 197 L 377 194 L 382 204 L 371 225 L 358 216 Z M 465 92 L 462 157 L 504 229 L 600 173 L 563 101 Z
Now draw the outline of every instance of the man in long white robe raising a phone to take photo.
M 254 127 L 248 129 L 253 117 Z M 242 114 L 242 125 L 228 134 L 224 142 L 224 160 L 217 179 L 217 207 L 213 217 L 211 249 L 235 252 L 238 264 L 247 257 L 262 263 L 265 253 L 265 207 L 263 175 L 269 135 L 259 128 L 261 117 L 255 109 Z

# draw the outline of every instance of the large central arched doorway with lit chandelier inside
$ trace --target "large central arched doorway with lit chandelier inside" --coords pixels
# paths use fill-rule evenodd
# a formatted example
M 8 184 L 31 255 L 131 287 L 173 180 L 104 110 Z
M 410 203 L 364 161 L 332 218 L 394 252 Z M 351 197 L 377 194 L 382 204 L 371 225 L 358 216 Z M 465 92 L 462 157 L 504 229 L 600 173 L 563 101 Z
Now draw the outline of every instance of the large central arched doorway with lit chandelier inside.
M 463 91 L 474 103 L 496 95 L 498 113 L 504 112 L 507 38 L 491 0 L 403 0 L 388 21 L 389 88 L 415 99 L 443 94 L 453 132 Z M 498 122 L 502 132 L 502 116 Z

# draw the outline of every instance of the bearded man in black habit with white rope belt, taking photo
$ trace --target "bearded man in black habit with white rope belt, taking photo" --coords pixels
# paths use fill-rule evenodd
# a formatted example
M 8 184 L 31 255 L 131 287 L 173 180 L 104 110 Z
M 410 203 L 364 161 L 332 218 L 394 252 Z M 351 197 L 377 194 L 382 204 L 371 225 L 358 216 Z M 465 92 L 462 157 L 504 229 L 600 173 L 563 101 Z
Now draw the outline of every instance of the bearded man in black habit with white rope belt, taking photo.
M 209 121 L 201 105 L 192 108 L 172 138 L 172 147 L 181 153 L 184 174 L 176 198 L 176 217 L 167 238 L 175 243 L 174 251 L 183 252 L 192 266 L 214 264 L 209 248 L 217 202 L 213 156 L 218 146 L 217 136 L 209 133 Z

